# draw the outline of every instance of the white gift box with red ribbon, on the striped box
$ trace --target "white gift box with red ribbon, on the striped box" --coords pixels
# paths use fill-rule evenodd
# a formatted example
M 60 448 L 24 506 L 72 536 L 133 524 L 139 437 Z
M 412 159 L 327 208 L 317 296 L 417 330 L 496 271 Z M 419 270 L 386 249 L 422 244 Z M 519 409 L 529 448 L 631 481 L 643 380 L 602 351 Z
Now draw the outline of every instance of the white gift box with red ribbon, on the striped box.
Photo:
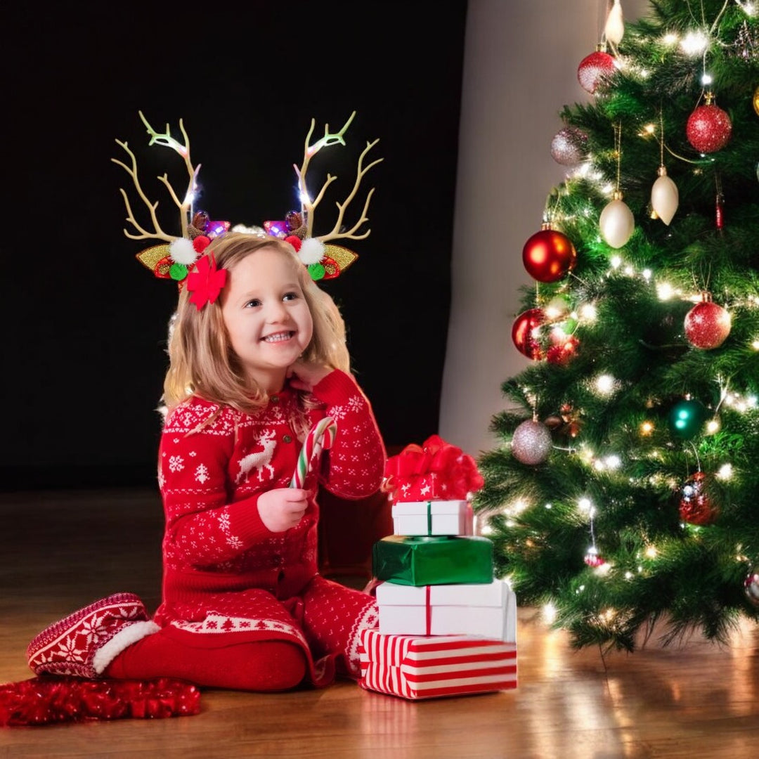
M 374 592 L 384 635 L 477 635 L 516 642 L 516 596 L 503 580 L 420 586 L 383 582 Z

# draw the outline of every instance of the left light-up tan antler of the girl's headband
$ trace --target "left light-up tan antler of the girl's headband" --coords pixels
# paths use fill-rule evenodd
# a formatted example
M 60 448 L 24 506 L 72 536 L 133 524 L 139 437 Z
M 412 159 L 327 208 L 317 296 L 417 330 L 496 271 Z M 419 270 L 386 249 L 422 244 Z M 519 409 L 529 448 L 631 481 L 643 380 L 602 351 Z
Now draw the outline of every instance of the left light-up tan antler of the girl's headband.
M 124 148 L 126 153 L 128 153 L 128 156 L 130 156 L 131 166 L 128 166 L 124 162 L 119 161 L 115 158 L 112 158 L 111 160 L 115 164 L 121 166 L 121 168 L 123 168 L 124 171 L 131 176 L 132 181 L 134 182 L 134 188 L 137 190 L 137 194 L 140 196 L 140 198 L 142 198 L 143 203 L 145 203 L 145 205 L 148 207 L 150 212 L 150 219 L 153 221 L 153 231 L 148 231 L 143 228 L 143 226 L 137 222 L 137 219 L 134 218 L 134 213 L 132 211 L 131 204 L 129 203 L 129 197 L 126 191 L 123 187 L 119 187 L 121 197 L 124 198 L 124 206 L 126 206 L 127 209 L 127 221 L 137 230 L 138 233 L 135 234 L 134 232 L 131 232 L 128 229 L 124 228 L 124 235 L 126 235 L 128 238 L 131 238 L 132 240 L 156 239 L 172 242 L 178 237 L 187 237 L 187 228 L 190 225 L 193 215 L 192 204 L 195 196 L 195 191 L 197 189 L 197 174 L 200 171 L 200 164 L 198 164 L 197 167 L 192 165 L 190 159 L 190 138 L 187 137 L 187 132 L 184 131 L 184 124 L 182 123 L 181 118 L 179 119 L 179 129 L 182 133 L 182 137 L 184 137 L 184 144 L 178 142 L 178 140 L 175 140 L 174 137 L 169 134 L 168 124 L 166 124 L 165 133 L 159 134 L 155 129 L 153 129 L 153 127 L 150 126 L 147 119 L 143 115 L 143 112 L 140 111 L 139 114 L 140 118 L 143 121 L 143 124 L 145 124 L 147 128 L 147 133 L 150 134 L 150 143 L 148 143 L 148 145 L 164 145 L 166 147 L 170 147 L 172 150 L 175 150 L 175 152 L 184 159 L 184 165 L 187 168 L 187 175 L 189 176 L 189 180 L 187 183 L 187 189 L 184 191 L 184 197 L 182 200 L 180 200 L 174 187 L 172 187 L 172 184 L 168 181 L 168 175 L 164 174 L 162 177 L 158 177 L 158 179 L 162 181 L 163 184 L 165 184 L 167 187 L 168 193 L 171 195 L 172 200 L 179 209 L 181 235 L 169 235 L 167 232 L 162 230 L 161 225 L 159 225 L 158 222 L 158 217 L 156 216 L 158 201 L 156 200 L 155 203 L 151 203 L 143 191 L 142 186 L 140 185 L 140 179 L 137 176 L 137 158 L 129 149 L 127 143 L 121 142 L 121 140 L 116 140 L 116 143 Z

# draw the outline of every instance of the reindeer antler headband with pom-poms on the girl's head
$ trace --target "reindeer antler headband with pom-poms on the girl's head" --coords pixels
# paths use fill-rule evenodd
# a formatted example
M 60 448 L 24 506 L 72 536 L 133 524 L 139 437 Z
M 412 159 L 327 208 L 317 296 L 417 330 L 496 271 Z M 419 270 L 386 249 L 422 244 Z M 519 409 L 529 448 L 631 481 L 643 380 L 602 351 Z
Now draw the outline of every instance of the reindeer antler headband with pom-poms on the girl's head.
M 198 191 L 200 164 L 194 166 L 191 161 L 190 138 L 184 130 L 182 120 L 179 120 L 179 130 L 181 131 L 184 143 L 175 140 L 175 138 L 171 136 L 168 124 L 166 124 L 165 132 L 161 134 L 150 126 L 141 111 L 139 114 L 140 119 L 142 119 L 143 124 L 146 126 L 147 133 L 150 134 L 150 142 L 148 145 L 163 145 L 172 148 L 175 153 L 178 153 L 178 155 L 184 159 L 184 166 L 187 170 L 188 180 L 184 193 L 179 193 L 168 181 L 168 175 L 164 174 L 162 177 L 159 177 L 159 181 L 165 184 L 172 201 L 179 210 L 181 234 L 168 234 L 163 231 L 159 225 L 158 216 L 156 214 L 158 201 L 156 200 L 154 203 L 151 202 L 140 185 L 140 179 L 137 175 L 137 158 L 134 156 L 134 153 L 130 150 L 127 143 L 121 142 L 121 140 L 116 140 L 116 143 L 121 146 L 130 157 L 131 165 L 115 158 L 111 160 L 121 166 L 121 168 L 124 168 L 124 171 L 131 176 L 137 195 L 147 207 L 148 213 L 150 214 L 150 220 L 153 224 L 152 231 L 140 225 L 140 222 L 138 222 L 134 216 L 128 194 L 123 188 L 119 188 L 127 211 L 127 221 L 135 230 L 130 231 L 128 228 L 124 228 L 124 235 L 132 240 L 161 241 L 159 244 L 148 247 L 137 254 L 137 260 L 150 269 L 155 276 L 162 279 L 174 279 L 178 282 L 178 285 L 181 288 L 182 283 L 187 279 L 188 275 L 192 274 L 194 276 L 187 279 L 188 287 L 191 290 L 194 289 L 193 279 L 196 280 L 197 284 L 198 276 L 203 278 L 203 282 L 213 280 L 214 284 L 211 291 L 206 296 L 207 300 L 213 302 L 224 284 L 224 277 L 221 276 L 223 270 L 216 269 L 215 261 L 211 260 L 208 262 L 203 260 L 201 262 L 200 258 L 203 256 L 203 250 L 205 250 L 206 246 L 213 238 L 225 235 L 225 233 L 229 231 L 231 226 L 230 222 L 213 221 L 205 211 L 196 211 L 194 209 L 194 200 L 197 197 Z M 313 136 L 315 120 L 311 119 L 311 126 L 305 140 L 303 163 L 300 166 L 294 165 L 295 174 L 298 176 L 298 192 L 301 203 L 300 211 L 289 211 L 285 215 L 284 221 L 281 222 L 263 222 L 263 228 L 259 226 L 247 227 L 244 225 L 236 225 L 232 228 L 232 231 L 247 232 L 248 234 L 261 238 L 265 238 L 267 235 L 284 238 L 293 245 L 295 250 L 298 251 L 298 256 L 301 258 L 301 261 L 303 261 L 304 266 L 308 267 L 311 278 L 315 280 L 334 279 L 357 259 L 357 254 L 352 250 L 349 250 L 347 247 L 342 247 L 342 245 L 331 244 L 330 241 L 338 239 L 363 240 L 369 236 L 371 231 L 370 229 L 366 229 L 360 232 L 361 227 L 368 221 L 367 210 L 369 209 L 369 203 L 374 193 L 373 187 L 367 193 L 367 197 L 364 200 L 364 209 L 361 212 L 361 218 L 348 229 L 344 228 L 343 222 L 345 209 L 357 196 L 364 175 L 366 175 L 370 168 L 383 160 L 379 158 L 371 162 L 369 165 L 364 165 L 364 159 L 366 159 L 367 153 L 369 153 L 379 140 L 373 140 L 373 142 L 367 143 L 364 151 L 359 156 L 353 189 L 342 203 L 336 203 L 338 217 L 332 230 L 326 234 L 313 234 L 314 212 L 319 203 L 323 200 L 326 188 L 329 187 L 329 184 L 332 184 L 337 177 L 328 174 L 326 181 L 324 181 L 320 191 L 315 197 L 313 197 L 313 199 L 306 186 L 306 175 L 310 160 L 325 147 L 331 145 L 345 145 L 345 131 L 348 130 L 355 115 L 355 111 L 351 113 L 350 118 L 345 122 L 342 129 L 335 133 L 331 133 L 329 131 L 329 124 L 326 124 L 324 127 L 324 136 L 313 144 L 310 144 L 310 140 Z M 204 303 L 205 300 L 203 300 L 203 304 Z M 202 307 L 202 304 L 197 301 L 196 305 L 198 308 Z

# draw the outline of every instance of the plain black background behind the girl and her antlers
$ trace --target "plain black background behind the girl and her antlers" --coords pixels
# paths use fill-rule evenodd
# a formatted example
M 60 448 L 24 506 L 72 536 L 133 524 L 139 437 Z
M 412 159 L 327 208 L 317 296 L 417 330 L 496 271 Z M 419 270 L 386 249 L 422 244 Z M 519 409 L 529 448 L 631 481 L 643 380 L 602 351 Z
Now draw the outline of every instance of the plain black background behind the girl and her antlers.
M 239 10 L 144 3 L 4 11 L 2 325 L 3 490 L 145 485 L 155 480 L 176 285 L 134 256 L 156 241 L 124 236 L 124 187 L 112 158 L 137 155 L 161 223 L 178 213 L 156 180 L 186 187 L 172 150 L 148 147 L 179 119 L 200 163 L 197 208 L 261 225 L 297 207 L 293 164 L 314 134 L 352 111 L 345 147 L 314 159 L 312 191 L 332 228 L 357 156 L 382 163 L 359 259 L 323 283 L 389 447 L 436 433 L 450 300 L 450 257 L 466 2 L 248 2 Z M 357 217 L 356 217 L 357 218 Z M 321 219 L 321 222 L 319 221 Z M 150 223 L 143 216 L 143 222 Z

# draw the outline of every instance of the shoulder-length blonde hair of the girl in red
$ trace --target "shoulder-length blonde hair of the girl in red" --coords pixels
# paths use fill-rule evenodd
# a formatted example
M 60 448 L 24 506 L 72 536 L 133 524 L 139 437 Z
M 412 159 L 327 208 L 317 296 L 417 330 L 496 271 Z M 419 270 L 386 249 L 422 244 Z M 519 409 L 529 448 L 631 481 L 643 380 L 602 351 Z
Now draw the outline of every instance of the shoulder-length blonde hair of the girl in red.
M 287 257 L 298 272 L 298 283 L 313 320 L 313 336 L 303 352 L 304 361 L 348 372 L 350 358 L 345 345 L 345 322 L 335 301 L 313 282 L 291 244 L 274 237 L 228 232 L 213 240 L 204 254 L 213 253 L 217 267 L 231 269 L 264 248 Z M 220 296 L 216 302 L 206 303 L 197 310 L 189 301 L 187 288 L 182 288 L 169 331 L 168 357 L 162 397 L 167 411 L 191 395 L 248 412 L 262 408 L 268 401 L 266 391 L 247 379 L 231 348 Z

